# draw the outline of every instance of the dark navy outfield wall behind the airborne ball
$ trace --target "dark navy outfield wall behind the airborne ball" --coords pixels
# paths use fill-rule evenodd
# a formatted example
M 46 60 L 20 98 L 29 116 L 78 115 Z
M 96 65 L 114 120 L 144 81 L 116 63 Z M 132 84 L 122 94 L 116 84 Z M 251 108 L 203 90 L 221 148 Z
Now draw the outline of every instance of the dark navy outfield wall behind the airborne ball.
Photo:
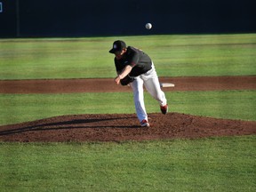
M 0 37 L 254 33 L 254 2 L 0 0 Z

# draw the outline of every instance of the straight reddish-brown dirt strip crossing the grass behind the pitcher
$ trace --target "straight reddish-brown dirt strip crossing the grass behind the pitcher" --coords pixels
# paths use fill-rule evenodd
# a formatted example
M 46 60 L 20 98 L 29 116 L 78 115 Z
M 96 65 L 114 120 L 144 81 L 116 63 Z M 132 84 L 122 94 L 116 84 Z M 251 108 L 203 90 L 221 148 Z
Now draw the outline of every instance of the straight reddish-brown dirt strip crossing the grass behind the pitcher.
M 161 83 L 175 84 L 164 91 L 254 90 L 256 76 L 161 77 Z M 114 79 L 57 79 L 0 81 L 0 93 L 131 92 L 116 86 Z

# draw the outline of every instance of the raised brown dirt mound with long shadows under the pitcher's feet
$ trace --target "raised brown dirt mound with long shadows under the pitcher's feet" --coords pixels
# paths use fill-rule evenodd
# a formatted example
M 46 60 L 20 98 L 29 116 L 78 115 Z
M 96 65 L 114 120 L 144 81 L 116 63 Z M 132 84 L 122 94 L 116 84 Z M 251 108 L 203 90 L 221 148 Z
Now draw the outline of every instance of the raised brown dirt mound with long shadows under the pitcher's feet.
M 0 126 L 2 141 L 121 141 L 196 139 L 251 135 L 256 122 L 190 116 L 149 114 L 150 127 L 141 128 L 136 115 L 56 116 L 22 124 Z

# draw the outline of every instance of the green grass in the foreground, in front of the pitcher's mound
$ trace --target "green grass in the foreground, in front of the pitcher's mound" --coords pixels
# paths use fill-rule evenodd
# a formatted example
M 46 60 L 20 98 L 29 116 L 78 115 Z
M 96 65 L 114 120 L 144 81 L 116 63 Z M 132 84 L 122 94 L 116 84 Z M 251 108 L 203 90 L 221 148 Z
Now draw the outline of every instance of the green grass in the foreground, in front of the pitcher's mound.
M 255 191 L 255 147 L 253 136 L 118 144 L 0 143 L 0 188 Z

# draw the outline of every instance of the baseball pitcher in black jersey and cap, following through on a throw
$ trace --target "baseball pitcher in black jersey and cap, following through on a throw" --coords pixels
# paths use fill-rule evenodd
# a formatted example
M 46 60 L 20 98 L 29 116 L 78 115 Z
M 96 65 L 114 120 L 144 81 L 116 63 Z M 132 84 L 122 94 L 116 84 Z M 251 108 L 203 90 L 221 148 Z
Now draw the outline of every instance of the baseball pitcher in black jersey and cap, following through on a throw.
M 116 84 L 131 85 L 140 125 L 149 127 L 143 85 L 150 95 L 159 102 L 162 113 L 166 114 L 168 111 L 167 100 L 161 90 L 153 61 L 145 52 L 132 46 L 126 47 L 124 41 L 121 40 L 115 41 L 109 52 L 115 54 Z

